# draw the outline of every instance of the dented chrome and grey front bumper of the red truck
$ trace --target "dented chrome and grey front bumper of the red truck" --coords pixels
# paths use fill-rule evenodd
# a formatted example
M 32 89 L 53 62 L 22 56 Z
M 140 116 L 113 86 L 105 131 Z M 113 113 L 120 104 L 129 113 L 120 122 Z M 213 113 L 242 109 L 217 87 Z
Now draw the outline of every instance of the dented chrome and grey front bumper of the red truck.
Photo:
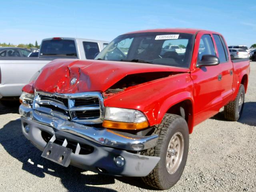
M 141 177 L 148 175 L 160 160 L 159 157 L 143 156 L 126 151 L 136 151 L 134 148 L 138 149 L 139 146 L 143 146 L 142 150 L 154 147 L 158 135 L 144 137 L 124 135 L 105 128 L 95 128 L 62 120 L 24 105 L 20 106 L 19 111 L 22 116 L 24 136 L 41 151 L 47 145 L 42 132 L 47 132 L 54 139 L 65 138 L 68 142 L 93 147 L 94 150 L 90 154 L 72 152 L 70 164 L 82 169 L 111 175 Z M 117 156 L 124 158 L 124 166 L 116 166 L 114 159 Z

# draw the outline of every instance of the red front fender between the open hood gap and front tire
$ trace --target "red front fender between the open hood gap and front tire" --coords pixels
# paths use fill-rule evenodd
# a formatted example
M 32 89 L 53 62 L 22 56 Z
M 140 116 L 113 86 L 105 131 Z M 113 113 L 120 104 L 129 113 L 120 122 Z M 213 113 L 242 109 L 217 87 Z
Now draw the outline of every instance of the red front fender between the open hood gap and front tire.
M 174 104 L 192 99 L 193 84 L 189 73 L 181 73 L 134 86 L 104 100 L 106 107 L 142 111 L 150 126 L 159 124 Z

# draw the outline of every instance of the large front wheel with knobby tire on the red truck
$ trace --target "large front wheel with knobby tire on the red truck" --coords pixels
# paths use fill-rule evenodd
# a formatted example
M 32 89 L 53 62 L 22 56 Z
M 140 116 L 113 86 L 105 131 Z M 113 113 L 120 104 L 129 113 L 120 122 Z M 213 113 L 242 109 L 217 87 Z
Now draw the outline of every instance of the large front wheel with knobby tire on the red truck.
M 175 114 L 166 114 L 154 134 L 158 134 L 158 143 L 154 148 L 144 151 L 143 155 L 158 156 L 156 167 L 142 180 L 161 190 L 171 188 L 180 180 L 188 157 L 189 133 L 184 118 Z

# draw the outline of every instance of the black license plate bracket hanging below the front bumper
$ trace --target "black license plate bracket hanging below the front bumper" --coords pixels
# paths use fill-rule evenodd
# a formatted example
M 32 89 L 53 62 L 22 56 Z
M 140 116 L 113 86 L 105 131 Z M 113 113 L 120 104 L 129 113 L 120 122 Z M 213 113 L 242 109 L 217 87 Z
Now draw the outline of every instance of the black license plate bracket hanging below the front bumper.
M 70 164 L 71 153 L 72 149 L 70 148 L 48 142 L 41 156 L 64 167 L 68 167 Z

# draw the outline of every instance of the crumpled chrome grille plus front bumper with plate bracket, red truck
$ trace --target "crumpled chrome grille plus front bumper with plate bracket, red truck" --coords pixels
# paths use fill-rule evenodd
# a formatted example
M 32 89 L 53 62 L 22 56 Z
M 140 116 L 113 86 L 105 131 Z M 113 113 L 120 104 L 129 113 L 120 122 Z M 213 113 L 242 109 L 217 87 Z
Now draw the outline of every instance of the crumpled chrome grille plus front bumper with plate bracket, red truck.
M 100 92 L 35 92 L 32 103 L 27 99 L 19 109 L 22 132 L 44 158 L 120 176 L 146 176 L 159 161 L 140 155 L 156 145 L 158 135 L 136 136 L 101 126 L 105 107 Z

